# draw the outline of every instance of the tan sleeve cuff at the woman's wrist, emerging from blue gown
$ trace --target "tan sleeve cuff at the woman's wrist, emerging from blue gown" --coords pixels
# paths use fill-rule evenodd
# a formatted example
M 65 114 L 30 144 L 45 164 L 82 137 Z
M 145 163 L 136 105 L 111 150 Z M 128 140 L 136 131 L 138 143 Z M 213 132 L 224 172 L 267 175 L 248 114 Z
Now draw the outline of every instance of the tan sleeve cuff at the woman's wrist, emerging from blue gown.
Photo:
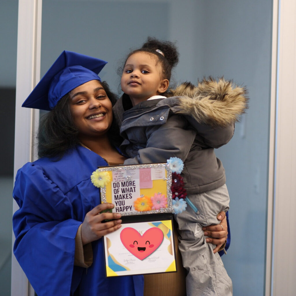
M 81 224 L 82 225 L 82 224 Z M 75 266 L 89 267 L 93 263 L 93 252 L 91 243 L 83 246 L 81 239 L 81 225 L 75 237 Z

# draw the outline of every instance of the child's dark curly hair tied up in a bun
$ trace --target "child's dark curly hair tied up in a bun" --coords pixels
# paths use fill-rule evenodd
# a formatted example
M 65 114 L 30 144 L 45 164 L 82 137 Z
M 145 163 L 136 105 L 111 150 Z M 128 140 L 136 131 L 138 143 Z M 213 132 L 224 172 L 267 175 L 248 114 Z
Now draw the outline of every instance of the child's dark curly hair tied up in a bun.
M 179 53 L 175 44 L 170 41 L 160 41 L 156 38 L 148 37 L 141 48 L 135 49 L 128 54 L 123 66 L 118 69 L 118 74 L 122 74 L 127 59 L 136 52 L 148 52 L 156 56 L 157 62 L 161 64 L 163 79 L 168 79 L 168 81 L 170 81 L 172 68 L 175 67 L 179 61 Z

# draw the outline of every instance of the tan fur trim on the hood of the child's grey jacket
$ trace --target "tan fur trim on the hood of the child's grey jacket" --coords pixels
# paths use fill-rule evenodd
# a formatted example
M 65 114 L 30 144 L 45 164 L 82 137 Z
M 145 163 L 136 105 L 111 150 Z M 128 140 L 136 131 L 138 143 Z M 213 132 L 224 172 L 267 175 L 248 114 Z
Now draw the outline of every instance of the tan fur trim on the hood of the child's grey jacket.
M 198 123 L 213 127 L 225 127 L 239 121 L 239 116 L 248 108 L 245 87 L 236 86 L 232 81 L 212 77 L 204 78 L 194 86 L 190 82 L 182 83 L 170 96 L 157 105 L 170 105 L 179 114 L 190 115 Z M 178 98 L 173 98 L 178 96 Z

